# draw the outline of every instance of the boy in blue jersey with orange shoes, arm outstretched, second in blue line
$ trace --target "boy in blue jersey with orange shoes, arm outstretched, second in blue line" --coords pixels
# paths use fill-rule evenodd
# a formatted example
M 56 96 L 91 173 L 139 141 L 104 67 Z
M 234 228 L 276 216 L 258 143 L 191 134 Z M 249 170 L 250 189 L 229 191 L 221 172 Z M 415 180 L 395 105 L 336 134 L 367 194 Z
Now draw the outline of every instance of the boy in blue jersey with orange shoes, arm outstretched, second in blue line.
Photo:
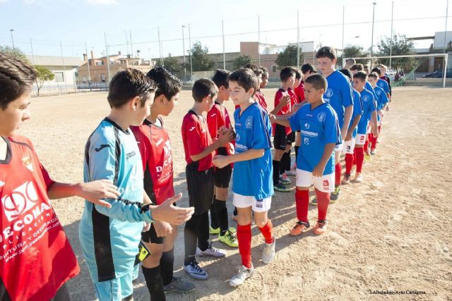
M 334 190 L 334 148 L 342 143 L 338 116 L 333 107 L 323 99 L 327 82 L 323 75 L 314 74 L 304 82 L 304 104 L 290 118 L 271 115 L 272 122 L 290 125 L 292 130 L 301 130 L 301 152 L 297 157 L 297 192 L 295 204 L 297 223 L 290 231 L 299 235 L 309 228 L 308 206 L 309 188 L 314 184 L 319 206 L 319 215 L 314 233 L 326 231 L 326 211 L 330 193 Z

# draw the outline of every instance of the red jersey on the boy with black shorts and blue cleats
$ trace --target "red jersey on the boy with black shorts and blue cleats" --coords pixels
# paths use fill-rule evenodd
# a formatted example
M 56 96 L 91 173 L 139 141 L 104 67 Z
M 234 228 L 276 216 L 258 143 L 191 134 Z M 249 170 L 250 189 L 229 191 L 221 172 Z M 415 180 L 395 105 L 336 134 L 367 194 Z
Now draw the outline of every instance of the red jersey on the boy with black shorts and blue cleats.
M 182 121 L 182 142 L 184 142 L 186 164 L 192 164 L 191 156 L 200 154 L 213 143 L 206 120 L 192 110 L 186 113 Z M 215 152 L 211 152 L 198 161 L 198 171 L 206 171 L 213 166 L 214 154 Z

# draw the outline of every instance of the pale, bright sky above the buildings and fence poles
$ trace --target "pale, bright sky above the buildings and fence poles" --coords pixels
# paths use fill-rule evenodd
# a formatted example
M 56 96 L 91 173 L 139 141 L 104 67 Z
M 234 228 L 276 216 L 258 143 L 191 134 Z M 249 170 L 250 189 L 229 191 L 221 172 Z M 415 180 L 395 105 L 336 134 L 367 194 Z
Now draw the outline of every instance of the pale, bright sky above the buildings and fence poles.
M 391 0 L 375 0 L 374 41 L 391 32 Z M 261 42 L 287 44 L 297 42 L 297 10 L 300 40 L 316 44 L 342 46 L 343 6 L 346 44 L 371 44 L 372 2 L 369 0 L 323 1 L 125 1 L 125 0 L 0 0 L 0 44 L 15 46 L 31 53 L 30 39 L 36 55 L 81 56 L 93 49 L 95 56 L 105 54 L 104 33 L 109 53 L 160 56 L 157 27 L 164 56 L 182 55 L 182 25 L 185 49 L 189 49 L 188 24 L 192 42 L 200 41 L 210 52 L 222 51 L 222 20 L 225 50 L 239 51 L 240 41 L 258 40 L 260 16 Z M 452 2 L 452 1 L 451 1 Z M 393 30 L 409 37 L 430 36 L 444 31 L 446 0 L 394 0 Z M 451 5 L 449 5 L 451 8 Z M 451 15 L 451 10 L 449 10 Z M 407 20 L 417 19 L 418 20 Z M 403 19 L 403 20 L 400 20 Z M 451 30 L 452 19 L 448 20 Z M 432 41 L 417 42 L 429 47 Z

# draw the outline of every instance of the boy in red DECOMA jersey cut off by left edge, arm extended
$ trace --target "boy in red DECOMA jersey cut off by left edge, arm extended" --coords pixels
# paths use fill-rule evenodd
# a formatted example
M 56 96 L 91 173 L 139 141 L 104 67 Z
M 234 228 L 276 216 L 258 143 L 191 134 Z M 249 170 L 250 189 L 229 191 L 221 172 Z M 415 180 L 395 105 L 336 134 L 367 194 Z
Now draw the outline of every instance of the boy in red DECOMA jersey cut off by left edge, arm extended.
M 77 195 L 110 207 L 102 198 L 119 195 L 108 180 L 55 182 L 17 135 L 36 77 L 28 63 L 0 53 L 0 300 L 69 300 L 65 283 L 79 267 L 49 199 Z

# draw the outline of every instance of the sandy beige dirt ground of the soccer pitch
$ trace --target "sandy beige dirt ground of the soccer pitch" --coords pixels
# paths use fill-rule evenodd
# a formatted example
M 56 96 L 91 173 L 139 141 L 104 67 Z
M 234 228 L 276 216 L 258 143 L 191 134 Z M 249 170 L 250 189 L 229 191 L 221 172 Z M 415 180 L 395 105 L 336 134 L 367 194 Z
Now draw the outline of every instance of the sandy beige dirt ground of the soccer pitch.
M 274 93 L 264 91 L 268 103 Z M 54 179 L 83 180 L 84 145 L 109 111 L 106 97 L 102 92 L 32 99 L 32 119 L 20 133 L 34 142 Z M 230 288 L 227 281 L 240 263 L 238 250 L 212 236 L 227 257 L 200 259 L 210 279 L 194 281 L 193 293 L 169 293 L 167 300 L 452 300 L 452 205 L 447 197 L 452 188 L 451 100 L 450 88 L 394 89 L 378 153 L 364 164 L 363 183 L 343 187 L 340 200 L 329 207 L 326 234 L 290 236 L 295 194 L 277 192 L 269 211 L 276 236 L 273 262 L 266 266 L 259 261 L 263 238 L 253 226 L 254 276 Z M 180 125 L 191 104 L 191 92 L 182 92 L 172 116 L 164 118 L 174 151 L 174 186 L 184 192 L 181 206 L 188 199 Z M 227 104 L 231 114 L 232 107 Z M 71 198 L 53 204 L 81 266 L 81 274 L 69 281 L 71 299 L 95 300 L 78 242 L 84 202 Z M 309 209 L 314 222 L 316 207 Z M 175 275 L 189 279 L 182 271 L 182 233 L 183 226 L 175 247 Z M 138 279 L 135 300 L 149 300 L 143 276 Z M 400 295 L 376 295 L 377 290 Z

